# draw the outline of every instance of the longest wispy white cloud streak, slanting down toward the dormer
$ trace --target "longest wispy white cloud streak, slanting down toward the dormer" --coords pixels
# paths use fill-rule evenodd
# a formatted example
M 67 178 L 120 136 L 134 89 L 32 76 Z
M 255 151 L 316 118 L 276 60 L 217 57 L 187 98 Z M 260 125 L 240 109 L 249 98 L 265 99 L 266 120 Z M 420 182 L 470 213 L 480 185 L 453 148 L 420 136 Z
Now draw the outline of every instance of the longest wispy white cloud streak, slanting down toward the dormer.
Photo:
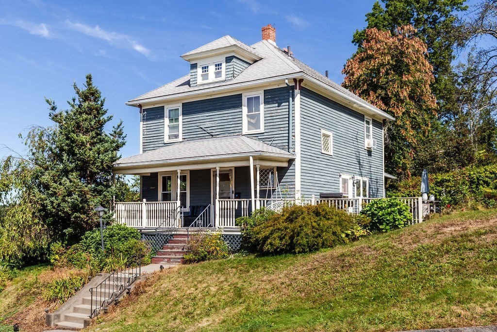
M 131 48 L 146 57 L 149 57 L 151 52 L 148 48 L 138 43 L 132 37 L 121 34 L 115 31 L 107 31 L 100 28 L 98 25 L 89 26 L 83 23 L 73 23 L 70 20 L 66 20 L 65 24 L 72 30 L 79 31 L 87 36 L 105 40 L 110 45 Z

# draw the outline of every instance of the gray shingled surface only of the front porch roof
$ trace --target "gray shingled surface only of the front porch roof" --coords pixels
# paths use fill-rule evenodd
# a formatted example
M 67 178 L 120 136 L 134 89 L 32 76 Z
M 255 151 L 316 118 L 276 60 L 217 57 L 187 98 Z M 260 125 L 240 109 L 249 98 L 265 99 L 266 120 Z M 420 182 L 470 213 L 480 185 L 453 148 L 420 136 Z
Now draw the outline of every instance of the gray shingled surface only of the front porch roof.
M 114 166 L 119 167 L 135 163 L 172 163 L 183 159 L 195 161 L 196 159 L 205 157 L 212 157 L 214 159 L 216 157 L 229 157 L 241 154 L 246 154 L 247 156 L 265 154 L 286 157 L 288 159 L 295 158 L 288 151 L 253 138 L 238 135 L 182 141 L 160 149 L 119 159 Z

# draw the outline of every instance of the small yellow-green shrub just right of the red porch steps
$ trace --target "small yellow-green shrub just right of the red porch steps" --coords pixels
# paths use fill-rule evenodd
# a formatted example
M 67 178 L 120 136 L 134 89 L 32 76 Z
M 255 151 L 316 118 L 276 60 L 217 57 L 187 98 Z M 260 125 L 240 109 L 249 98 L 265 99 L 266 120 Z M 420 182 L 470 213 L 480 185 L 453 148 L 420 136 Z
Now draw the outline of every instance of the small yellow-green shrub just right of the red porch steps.
M 184 262 L 198 263 L 228 257 L 229 248 L 220 232 L 192 234 L 186 245 Z

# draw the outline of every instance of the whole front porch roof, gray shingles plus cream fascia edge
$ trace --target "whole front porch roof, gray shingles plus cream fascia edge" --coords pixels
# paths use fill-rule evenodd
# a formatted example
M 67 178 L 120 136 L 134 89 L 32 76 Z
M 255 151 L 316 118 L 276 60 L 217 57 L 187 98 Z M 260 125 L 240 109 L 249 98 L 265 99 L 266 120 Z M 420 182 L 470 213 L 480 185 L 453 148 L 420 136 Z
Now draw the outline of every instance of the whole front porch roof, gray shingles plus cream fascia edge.
M 173 166 L 216 162 L 223 160 L 259 157 L 275 161 L 294 159 L 295 155 L 243 135 L 185 140 L 163 148 L 118 160 L 113 170 L 116 173 L 133 174 L 136 169 L 144 172 L 150 167 Z M 275 165 L 276 166 L 276 165 Z M 198 167 L 197 167 L 198 168 Z M 133 169 L 133 173 L 122 172 Z

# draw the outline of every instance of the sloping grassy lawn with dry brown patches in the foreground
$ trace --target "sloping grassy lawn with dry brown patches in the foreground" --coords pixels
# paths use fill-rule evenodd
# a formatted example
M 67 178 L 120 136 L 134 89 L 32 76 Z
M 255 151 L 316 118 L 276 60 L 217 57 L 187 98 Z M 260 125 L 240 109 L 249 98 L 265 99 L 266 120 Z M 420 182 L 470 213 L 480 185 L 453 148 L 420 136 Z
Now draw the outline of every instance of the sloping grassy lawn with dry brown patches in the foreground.
M 395 331 L 497 323 L 497 211 L 314 254 L 178 266 L 89 331 Z M 100 323 L 100 324 L 98 324 Z

